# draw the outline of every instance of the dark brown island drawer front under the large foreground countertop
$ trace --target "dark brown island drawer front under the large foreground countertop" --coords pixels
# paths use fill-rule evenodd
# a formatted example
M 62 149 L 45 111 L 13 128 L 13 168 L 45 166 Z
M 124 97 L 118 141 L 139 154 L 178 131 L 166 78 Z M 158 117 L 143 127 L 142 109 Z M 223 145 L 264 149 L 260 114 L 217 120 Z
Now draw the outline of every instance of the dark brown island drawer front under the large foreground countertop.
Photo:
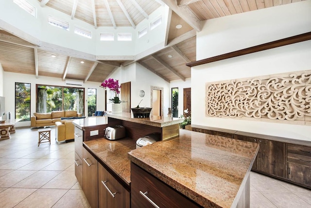
M 131 208 L 155 208 L 155 206 L 160 208 L 201 207 L 136 164 L 131 163 Z

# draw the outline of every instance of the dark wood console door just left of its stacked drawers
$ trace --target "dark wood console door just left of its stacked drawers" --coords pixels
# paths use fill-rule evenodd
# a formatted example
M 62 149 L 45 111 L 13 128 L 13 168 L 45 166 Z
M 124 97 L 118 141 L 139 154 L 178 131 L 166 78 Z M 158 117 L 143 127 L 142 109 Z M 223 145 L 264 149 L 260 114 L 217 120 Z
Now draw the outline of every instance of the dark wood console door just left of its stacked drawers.
M 285 177 L 285 143 L 258 139 L 257 170 Z

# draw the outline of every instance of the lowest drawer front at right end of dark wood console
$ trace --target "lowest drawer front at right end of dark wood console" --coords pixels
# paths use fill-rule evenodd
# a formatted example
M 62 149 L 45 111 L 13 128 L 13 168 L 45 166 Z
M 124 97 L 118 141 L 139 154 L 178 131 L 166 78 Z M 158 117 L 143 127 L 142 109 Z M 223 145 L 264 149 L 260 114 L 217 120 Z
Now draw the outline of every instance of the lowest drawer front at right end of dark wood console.
M 311 167 L 287 163 L 287 178 L 304 186 L 311 187 Z

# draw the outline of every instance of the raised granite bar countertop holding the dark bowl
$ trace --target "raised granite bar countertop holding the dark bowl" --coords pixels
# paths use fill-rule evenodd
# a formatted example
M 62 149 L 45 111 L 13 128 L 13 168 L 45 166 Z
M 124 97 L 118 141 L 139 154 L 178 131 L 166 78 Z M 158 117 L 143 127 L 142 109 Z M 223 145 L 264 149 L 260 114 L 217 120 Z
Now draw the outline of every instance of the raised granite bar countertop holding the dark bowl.
M 131 121 L 139 124 L 146 124 L 155 127 L 166 127 L 183 122 L 183 118 L 173 118 L 166 116 L 150 116 L 149 118 L 134 118 L 131 113 L 107 113 L 110 118 L 116 118 L 123 121 Z

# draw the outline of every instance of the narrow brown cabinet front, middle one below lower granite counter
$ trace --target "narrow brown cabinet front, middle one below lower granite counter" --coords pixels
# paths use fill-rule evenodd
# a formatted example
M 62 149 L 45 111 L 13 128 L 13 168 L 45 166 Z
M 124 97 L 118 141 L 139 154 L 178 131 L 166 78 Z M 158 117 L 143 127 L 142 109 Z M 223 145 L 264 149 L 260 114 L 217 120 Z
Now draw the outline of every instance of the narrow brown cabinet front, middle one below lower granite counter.
M 91 208 L 98 208 L 98 163 L 83 148 L 83 192 Z

